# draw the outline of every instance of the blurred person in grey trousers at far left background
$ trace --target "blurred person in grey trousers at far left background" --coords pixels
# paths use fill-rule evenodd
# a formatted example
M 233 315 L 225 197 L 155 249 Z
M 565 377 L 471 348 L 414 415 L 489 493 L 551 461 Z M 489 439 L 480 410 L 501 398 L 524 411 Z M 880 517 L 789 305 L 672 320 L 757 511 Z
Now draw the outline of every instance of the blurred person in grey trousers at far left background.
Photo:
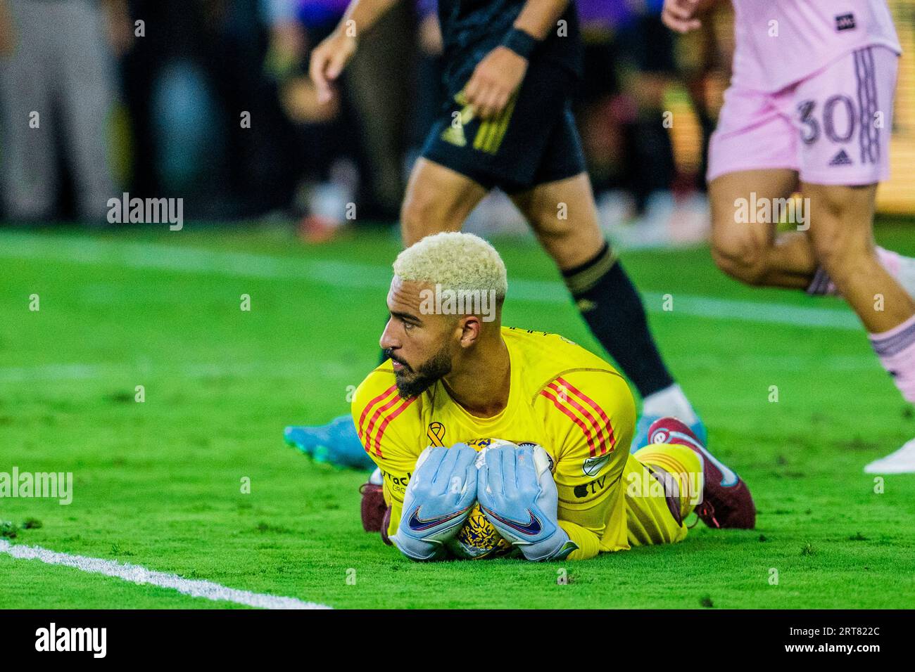
M 126 0 L 0 0 L 0 187 L 10 219 L 57 214 L 62 150 L 79 218 L 104 221 L 114 193 L 113 57 L 131 37 L 126 16 Z

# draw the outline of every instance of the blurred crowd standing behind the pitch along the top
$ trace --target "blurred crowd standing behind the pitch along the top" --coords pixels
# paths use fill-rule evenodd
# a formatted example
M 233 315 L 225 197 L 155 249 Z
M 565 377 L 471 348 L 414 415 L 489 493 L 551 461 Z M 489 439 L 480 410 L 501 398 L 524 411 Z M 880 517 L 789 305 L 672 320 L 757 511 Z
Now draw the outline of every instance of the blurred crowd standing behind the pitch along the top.
M 760 0 L 761 1 L 761 0 Z M 339 99 L 308 55 L 347 0 L 0 0 L 0 217 L 102 226 L 112 197 L 182 197 L 187 219 L 395 221 L 443 100 L 436 0 L 403 0 L 361 39 Z M 727 87 L 727 0 L 674 36 L 662 0 L 576 0 L 576 100 L 601 220 L 642 242 L 705 227 L 705 145 Z M 915 213 L 915 0 L 890 0 L 907 53 L 881 210 Z M 347 221 L 348 203 L 357 217 Z M 495 195 L 470 228 L 522 222 Z

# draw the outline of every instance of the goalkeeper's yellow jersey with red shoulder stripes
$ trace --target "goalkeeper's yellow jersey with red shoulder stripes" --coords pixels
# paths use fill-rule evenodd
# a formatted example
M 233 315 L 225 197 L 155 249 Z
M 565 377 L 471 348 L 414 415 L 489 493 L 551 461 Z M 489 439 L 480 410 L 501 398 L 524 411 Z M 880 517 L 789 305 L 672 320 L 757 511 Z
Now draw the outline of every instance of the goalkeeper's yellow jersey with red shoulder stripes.
M 600 357 L 563 336 L 502 327 L 511 359 L 506 407 L 479 418 L 452 400 L 441 381 L 402 399 L 391 361 L 362 381 L 352 417 L 382 470 L 393 534 L 419 453 L 429 445 L 475 439 L 539 443 L 554 461 L 559 525 L 576 542 L 572 559 L 629 549 L 624 473 L 641 470 L 630 457 L 635 403 L 629 386 Z M 629 463 L 629 465 L 628 465 Z

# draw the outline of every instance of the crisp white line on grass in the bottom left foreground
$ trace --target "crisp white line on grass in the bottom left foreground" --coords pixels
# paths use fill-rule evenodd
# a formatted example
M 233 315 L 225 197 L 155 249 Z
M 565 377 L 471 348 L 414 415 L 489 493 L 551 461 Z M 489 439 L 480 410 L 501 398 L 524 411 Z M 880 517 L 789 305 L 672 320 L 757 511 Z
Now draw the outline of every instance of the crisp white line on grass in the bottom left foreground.
M 6 539 L 0 539 L 0 553 L 6 553 L 16 560 L 41 560 L 49 565 L 62 565 L 92 574 L 104 574 L 140 585 L 148 583 L 160 588 L 170 588 L 191 597 L 205 597 L 217 602 L 233 602 L 261 609 L 330 609 L 327 604 L 302 602 L 294 597 L 277 597 L 259 592 L 240 591 L 212 581 L 182 579 L 178 574 L 147 570 L 145 567 L 125 564 L 117 560 L 58 553 L 42 549 L 40 546 L 14 545 Z

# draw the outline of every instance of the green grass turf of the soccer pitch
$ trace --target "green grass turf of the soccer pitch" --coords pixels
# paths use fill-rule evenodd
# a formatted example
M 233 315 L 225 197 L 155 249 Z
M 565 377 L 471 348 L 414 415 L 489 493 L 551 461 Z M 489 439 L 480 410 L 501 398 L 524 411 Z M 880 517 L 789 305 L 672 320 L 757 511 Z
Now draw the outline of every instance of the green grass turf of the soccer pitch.
M 910 229 L 881 229 L 878 238 L 915 254 Z M 132 243 L 141 262 L 124 261 Z M 143 267 L 181 259 L 149 244 L 231 252 L 238 266 Z M 497 244 L 510 283 L 557 279 L 530 241 Z M 109 246 L 118 254 L 107 256 Z M 888 476 L 878 494 L 861 470 L 915 436 L 915 420 L 863 332 L 678 313 L 677 297 L 688 294 L 844 310 L 836 300 L 741 287 L 703 249 L 630 253 L 624 262 L 642 290 L 673 294 L 673 311 L 652 310 L 652 327 L 712 449 L 752 487 L 757 530 L 700 524 L 676 546 L 562 565 L 415 564 L 383 546 L 361 529 L 364 475 L 310 463 L 281 432 L 348 410 L 350 386 L 376 362 L 383 324 L 383 280 L 363 285 L 386 276 L 396 251 L 378 231 L 313 249 L 274 228 L 0 233 L 0 471 L 75 477 L 70 506 L 0 499 L 0 520 L 42 523 L 12 540 L 334 607 L 915 601 L 915 476 Z M 294 271 L 254 277 L 267 255 Z M 298 264 L 324 274 L 296 277 Z M 38 312 L 28 310 L 33 293 Z M 242 293 L 250 312 L 240 310 Z M 505 322 L 596 348 L 569 303 L 512 301 L 510 290 Z M 251 494 L 241 492 L 245 476 Z M 231 606 L 3 554 L 0 577 L 0 607 Z

